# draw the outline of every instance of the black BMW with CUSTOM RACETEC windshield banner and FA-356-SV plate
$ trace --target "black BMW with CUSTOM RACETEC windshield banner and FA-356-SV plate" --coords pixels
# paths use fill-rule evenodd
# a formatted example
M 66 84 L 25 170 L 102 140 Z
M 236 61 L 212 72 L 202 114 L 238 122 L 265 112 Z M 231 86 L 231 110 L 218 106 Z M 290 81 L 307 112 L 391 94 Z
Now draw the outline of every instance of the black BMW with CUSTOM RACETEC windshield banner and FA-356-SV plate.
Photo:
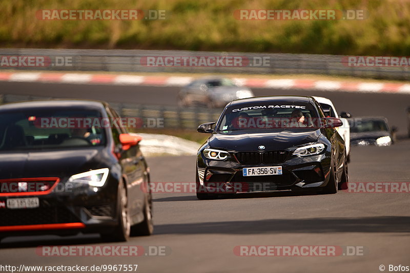
M 347 188 L 345 144 L 313 97 L 268 96 L 230 102 L 198 151 L 197 197 L 223 193 Z

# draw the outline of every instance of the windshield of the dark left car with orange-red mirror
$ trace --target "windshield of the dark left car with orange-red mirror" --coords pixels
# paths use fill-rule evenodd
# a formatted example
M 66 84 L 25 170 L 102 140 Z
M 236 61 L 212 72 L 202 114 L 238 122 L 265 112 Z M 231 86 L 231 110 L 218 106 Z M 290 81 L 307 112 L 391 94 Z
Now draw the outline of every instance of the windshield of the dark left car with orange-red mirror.
M 105 145 L 104 128 L 95 122 L 93 125 L 93 120 L 101 120 L 96 110 L 58 108 L 0 112 L 0 151 Z

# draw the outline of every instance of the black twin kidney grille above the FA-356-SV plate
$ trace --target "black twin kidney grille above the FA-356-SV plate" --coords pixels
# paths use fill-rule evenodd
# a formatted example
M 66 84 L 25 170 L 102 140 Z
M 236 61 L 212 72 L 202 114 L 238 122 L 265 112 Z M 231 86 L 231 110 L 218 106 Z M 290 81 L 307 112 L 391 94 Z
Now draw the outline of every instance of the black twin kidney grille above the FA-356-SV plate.
M 264 153 L 258 152 L 238 152 L 235 153 L 239 163 L 245 165 L 255 165 L 260 163 L 280 163 L 288 157 L 288 151 L 268 151 Z

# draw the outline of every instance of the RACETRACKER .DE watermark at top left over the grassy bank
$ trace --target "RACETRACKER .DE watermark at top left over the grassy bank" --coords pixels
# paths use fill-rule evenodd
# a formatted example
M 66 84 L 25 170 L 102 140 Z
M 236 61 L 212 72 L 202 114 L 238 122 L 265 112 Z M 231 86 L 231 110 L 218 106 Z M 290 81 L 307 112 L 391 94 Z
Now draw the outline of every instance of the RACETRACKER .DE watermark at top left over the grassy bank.
M 37 10 L 38 20 L 165 20 L 166 10 Z

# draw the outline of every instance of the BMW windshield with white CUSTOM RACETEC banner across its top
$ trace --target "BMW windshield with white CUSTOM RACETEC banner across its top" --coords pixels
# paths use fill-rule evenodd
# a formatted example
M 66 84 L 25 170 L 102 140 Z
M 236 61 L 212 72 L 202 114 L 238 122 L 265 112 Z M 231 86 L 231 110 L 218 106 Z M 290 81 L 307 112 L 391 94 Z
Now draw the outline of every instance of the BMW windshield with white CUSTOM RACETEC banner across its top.
M 228 108 L 217 125 L 218 131 L 320 127 L 320 119 L 310 103 L 275 101 Z

